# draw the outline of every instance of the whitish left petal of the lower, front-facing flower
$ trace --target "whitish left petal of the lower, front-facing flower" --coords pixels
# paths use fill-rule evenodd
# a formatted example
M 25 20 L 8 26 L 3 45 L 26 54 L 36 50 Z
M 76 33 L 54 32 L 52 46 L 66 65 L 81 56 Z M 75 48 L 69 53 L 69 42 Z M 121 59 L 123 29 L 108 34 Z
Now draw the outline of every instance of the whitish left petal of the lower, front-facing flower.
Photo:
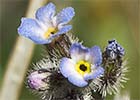
M 73 73 L 75 73 L 74 67 L 75 67 L 74 63 L 72 62 L 71 59 L 66 58 L 66 57 L 61 59 L 61 62 L 60 62 L 60 72 L 66 78 L 69 77 L 70 75 L 73 75 Z

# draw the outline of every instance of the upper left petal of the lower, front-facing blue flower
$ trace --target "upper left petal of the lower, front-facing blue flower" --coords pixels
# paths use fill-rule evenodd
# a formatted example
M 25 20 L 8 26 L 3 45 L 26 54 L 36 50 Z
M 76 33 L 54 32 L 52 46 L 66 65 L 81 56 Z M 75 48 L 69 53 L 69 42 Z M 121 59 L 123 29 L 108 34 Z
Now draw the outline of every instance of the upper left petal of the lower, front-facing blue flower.
M 79 43 L 72 44 L 70 48 L 70 55 L 74 61 L 87 60 L 89 56 L 89 49 Z

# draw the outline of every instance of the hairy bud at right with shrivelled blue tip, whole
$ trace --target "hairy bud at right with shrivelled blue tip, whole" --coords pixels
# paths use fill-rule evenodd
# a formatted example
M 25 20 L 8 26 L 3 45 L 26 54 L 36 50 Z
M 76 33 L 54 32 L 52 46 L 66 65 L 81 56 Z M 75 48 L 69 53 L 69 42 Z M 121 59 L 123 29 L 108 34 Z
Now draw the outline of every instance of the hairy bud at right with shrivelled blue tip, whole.
M 98 91 L 103 97 L 107 94 L 112 95 L 119 92 L 123 82 L 127 82 L 126 73 L 128 72 L 127 60 L 123 59 L 125 50 L 116 40 L 108 41 L 108 45 L 103 52 L 103 63 L 105 72 L 100 78 Z

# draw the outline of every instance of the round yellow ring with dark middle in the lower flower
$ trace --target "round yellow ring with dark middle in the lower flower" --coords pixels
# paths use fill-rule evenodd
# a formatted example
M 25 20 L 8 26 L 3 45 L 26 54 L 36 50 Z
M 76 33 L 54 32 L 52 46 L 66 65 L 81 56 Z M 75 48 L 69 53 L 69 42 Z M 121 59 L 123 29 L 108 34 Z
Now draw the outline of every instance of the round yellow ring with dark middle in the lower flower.
M 90 68 L 90 63 L 84 60 L 80 60 L 77 64 L 76 64 L 76 70 L 79 74 L 81 74 L 82 76 L 85 73 L 90 73 L 91 72 L 91 68 Z

